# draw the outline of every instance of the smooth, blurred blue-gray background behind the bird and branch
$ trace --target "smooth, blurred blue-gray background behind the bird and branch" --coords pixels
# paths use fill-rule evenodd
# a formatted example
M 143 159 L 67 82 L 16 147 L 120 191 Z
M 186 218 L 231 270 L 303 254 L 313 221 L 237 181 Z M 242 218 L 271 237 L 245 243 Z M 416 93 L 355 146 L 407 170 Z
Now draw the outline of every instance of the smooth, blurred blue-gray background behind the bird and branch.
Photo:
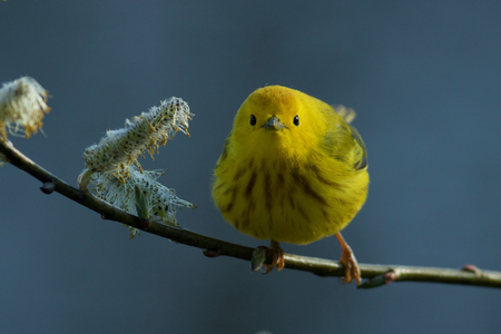
M 306 1 L 305 1 L 306 2 Z M 353 107 L 366 205 L 344 230 L 362 263 L 501 269 L 499 1 L 0 2 L 0 81 L 53 96 L 47 137 L 11 138 L 76 185 L 84 149 L 178 96 L 196 117 L 148 168 L 198 206 L 191 230 L 257 246 L 210 200 L 233 117 L 265 85 Z M 119 224 L 0 169 L 0 333 L 493 333 L 495 289 L 335 278 L 248 264 Z M 335 238 L 288 253 L 337 259 Z

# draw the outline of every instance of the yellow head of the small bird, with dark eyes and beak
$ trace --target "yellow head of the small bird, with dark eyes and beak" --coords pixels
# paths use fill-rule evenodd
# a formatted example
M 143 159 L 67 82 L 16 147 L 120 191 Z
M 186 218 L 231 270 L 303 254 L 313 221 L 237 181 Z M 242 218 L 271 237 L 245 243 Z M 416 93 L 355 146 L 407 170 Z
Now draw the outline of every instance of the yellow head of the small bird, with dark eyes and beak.
M 325 134 L 326 104 L 298 90 L 267 86 L 248 96 L 238 110 L 233 140 L 252 154 L 306 154 Z M 331 108 L 332 109 L 332 108 Z

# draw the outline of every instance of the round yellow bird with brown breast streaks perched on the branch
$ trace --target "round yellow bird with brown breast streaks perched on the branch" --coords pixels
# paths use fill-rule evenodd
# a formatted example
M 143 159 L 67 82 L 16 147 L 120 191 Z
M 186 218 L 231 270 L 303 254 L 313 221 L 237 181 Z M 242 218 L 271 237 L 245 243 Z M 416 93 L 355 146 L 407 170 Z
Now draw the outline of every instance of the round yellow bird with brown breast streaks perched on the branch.
M 365 145 L 355 112 L 282 86 L 259 88 L 236 114 L 214 170 L 213 197 L 239 232 L 271 239 L 271 272 L 284 267 L 279 243 L 305 245 L 335 235 L 345 283 L 361 274 L 343 229 L 369 190 Z

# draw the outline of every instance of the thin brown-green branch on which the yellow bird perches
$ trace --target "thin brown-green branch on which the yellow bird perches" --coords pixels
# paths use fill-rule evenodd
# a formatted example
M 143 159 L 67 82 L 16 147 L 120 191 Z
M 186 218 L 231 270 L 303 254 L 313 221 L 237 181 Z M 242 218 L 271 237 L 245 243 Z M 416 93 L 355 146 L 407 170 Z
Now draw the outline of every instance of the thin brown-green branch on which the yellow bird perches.
M 46 194 L 57 191 L 78 204 L 98 213 L 105 219 L 127 224 L 137 229 L 151 233 L 179 244 L 202 248 L 208 257 L 229 256 L 249 262 L 255 248 L 245 247 L 216 238 L 189 232 L 179 227 L 171 227 L 151 220 L 139 219 L 124 210 L 120 210 L 88 191 L 73 188 L 57 176 L 38 166 L 31 159 L 17 150 L 10 141 L 1 143 L 0 154 L 3 160 L 24 170 L 39 179 L 43 185 L 41 190 Z M 272 263 L 272 256 L 267 256 L 265 263 Z M 286 254 L 285 267 L 288 269 L 310 272 L 318 276 L 343 277 L 343 265 L 337 262 Z M 501 272 L 480 271 L 474 266 L 465 266 L 462 269 L 413 267 L 397 265 L 360 264 L 362 277 L 369 278 L 360 287 L 370 288 L 391 282 L 430 282 L 462 285 L 475 285 L 487 287 L 501 287 Z

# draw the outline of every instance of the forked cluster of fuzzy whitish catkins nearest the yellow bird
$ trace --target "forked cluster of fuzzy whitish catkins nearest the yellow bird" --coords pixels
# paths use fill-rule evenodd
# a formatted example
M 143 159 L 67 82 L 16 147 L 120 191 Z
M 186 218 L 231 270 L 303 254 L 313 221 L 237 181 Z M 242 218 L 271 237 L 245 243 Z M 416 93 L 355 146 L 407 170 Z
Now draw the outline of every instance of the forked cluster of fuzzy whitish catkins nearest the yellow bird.
M 146 213 L 144 218 L 177 226 L 176 209 L 196 206 L 157 181 L 164 171 L 143 170 L 137 158 L 146 153 L 153 157 L 177 131 L 189 136 L 188 120 L 193 116 L 183 99 L 173 97 L 148 112 L 127 119 L 125 128 L 108 130 L 99 144 L 84 154 L 86 169 L 79 176 L 80 188 L 87 190 L 92 183 L 95 196 L 112 206 L 137 215 L 137 205 L 143 205 L 146 206 L 141 207 L 141 214 Z M 145 199 L 141 204 L 137 203 L 135 187 Z M 129 229 L 134 237 L 137 229 Z

